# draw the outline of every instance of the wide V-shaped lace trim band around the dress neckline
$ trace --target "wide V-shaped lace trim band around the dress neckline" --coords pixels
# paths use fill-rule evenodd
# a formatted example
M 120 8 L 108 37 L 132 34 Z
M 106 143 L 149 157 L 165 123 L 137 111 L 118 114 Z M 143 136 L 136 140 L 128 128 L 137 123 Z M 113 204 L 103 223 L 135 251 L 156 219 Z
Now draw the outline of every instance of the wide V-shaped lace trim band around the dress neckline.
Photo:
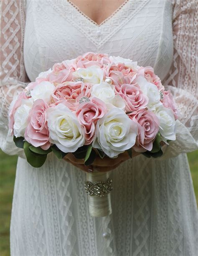
M 149 0 L 128 0 L 109 18 L 105 19 L 102 24 L 96 26 L 96 23 L 86 17 L 73 3 L 63 0 L 47 1 L 59 15 L 81 31 L 97 48 L 107 42 L 149 2 Z

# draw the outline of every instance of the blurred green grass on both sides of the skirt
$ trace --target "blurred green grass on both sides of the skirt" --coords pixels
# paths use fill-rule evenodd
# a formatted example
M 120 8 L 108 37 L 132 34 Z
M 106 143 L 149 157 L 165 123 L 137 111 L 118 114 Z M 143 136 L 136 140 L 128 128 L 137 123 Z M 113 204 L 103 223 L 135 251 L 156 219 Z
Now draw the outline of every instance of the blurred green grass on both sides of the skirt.
M 198 151 L 189 153 L 188 159 L 198 203 Z M 10 255 L 9 229 L 16 162 L 16 156 L 0 151 L 0 256 Z

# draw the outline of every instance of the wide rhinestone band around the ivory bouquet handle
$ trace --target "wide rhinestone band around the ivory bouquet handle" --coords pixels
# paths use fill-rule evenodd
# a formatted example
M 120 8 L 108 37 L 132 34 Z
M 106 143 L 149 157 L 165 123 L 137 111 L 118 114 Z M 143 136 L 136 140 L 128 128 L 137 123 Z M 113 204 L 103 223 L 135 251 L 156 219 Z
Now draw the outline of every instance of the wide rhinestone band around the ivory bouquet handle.
M 106 193 L 112 191 L 112 179 L 108 178 L 107 181 L 100 181 L 92 183 L 86 181 L 84 188 L 88 196 L 104 196 Z

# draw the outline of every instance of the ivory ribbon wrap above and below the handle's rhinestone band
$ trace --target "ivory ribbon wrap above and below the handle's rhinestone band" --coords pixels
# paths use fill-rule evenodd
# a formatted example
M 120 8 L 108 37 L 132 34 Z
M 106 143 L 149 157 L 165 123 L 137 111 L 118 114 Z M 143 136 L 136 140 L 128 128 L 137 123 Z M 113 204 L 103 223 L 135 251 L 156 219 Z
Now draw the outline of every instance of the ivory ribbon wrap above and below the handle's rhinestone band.
M 86 180 L 92 183 L 106 182 L 110 172 L 86 173 Z M 112 213 L 110 192 L 104 196 L 88 196 L 89 213 L 92 217 L 103 217 Z

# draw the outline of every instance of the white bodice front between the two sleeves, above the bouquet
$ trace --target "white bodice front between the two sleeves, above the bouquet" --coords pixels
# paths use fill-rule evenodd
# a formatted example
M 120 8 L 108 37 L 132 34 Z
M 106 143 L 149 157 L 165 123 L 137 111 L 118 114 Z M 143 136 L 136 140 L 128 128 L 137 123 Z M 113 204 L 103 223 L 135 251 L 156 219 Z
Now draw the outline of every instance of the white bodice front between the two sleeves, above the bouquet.
M 90 51 L 152 65 L 163 78 L 173 58 L 169 0 L 129 0 L 100 26 L 66 0 L 27 0 L 24 60 L 31 81 L 54 63 Z

